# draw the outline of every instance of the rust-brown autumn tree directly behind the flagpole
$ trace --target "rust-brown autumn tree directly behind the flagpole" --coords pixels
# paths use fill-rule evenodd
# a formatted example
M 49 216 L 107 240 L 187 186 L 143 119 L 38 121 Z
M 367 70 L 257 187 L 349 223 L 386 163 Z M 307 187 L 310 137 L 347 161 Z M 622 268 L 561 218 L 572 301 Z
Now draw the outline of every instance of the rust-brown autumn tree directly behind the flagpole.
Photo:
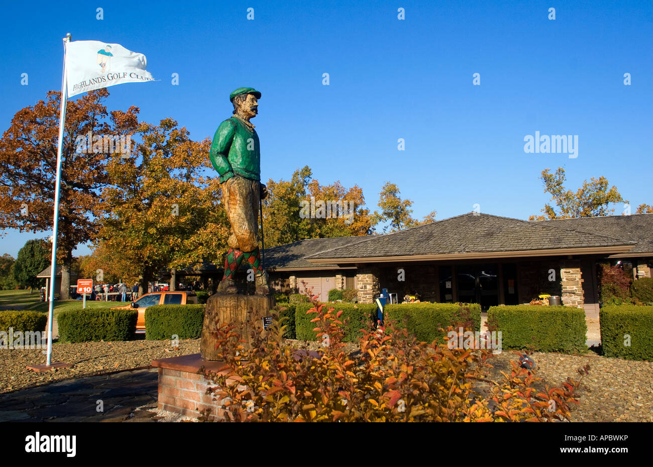
M 98 195 L 110 183 L 108 156 L 124 149 L 99 139 L 126 141 L 136 125 L 138 109 L 109 114 L 108 95 L 99 89 L 67 103 L 57 236 L 61 299 L 69 298 L 72 251 L 97 236 Z M 52 230 L 60 105 L 61 93 L 48 92 L 45 101 L 16 112 L 0 139 L 0 229 Z M 89 134 L 91 141 L 82 144 Z

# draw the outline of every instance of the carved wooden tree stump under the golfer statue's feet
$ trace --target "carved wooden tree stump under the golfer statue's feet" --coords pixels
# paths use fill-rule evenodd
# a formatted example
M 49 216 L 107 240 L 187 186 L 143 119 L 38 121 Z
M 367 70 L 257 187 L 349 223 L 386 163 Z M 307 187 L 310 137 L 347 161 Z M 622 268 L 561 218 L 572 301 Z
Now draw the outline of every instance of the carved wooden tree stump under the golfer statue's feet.
M 202 340 L 200 353 L 202 359 L 218 361 L 217 329 L 227 323 L 236 326 L 234 332 L 245 339 L 243 346 L 251 349 L 251 332 L 263 329 L 264 317 L 270 317 L 274 308 L 272 295 L 228 295 L 215 293 L 206 300 L 204 324 L 202 325 Z

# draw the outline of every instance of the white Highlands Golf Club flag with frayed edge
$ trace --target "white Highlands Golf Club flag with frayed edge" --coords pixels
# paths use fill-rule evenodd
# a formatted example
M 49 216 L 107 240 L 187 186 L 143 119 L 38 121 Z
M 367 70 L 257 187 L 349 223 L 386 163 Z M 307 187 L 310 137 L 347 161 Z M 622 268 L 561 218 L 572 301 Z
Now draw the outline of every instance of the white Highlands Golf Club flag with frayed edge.
M 75 40 L 66 44 L 68 97 L 114 84 L 153 81 L 143 54 L 120 44 Z

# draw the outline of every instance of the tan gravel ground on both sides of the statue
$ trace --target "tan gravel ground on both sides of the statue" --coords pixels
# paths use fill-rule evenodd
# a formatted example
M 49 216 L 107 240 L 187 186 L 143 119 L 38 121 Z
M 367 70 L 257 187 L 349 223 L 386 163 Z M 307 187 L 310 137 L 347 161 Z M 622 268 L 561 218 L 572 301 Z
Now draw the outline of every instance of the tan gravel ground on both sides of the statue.
M 319 348 L 315 342 L 289 341 L 289 344 L 309 350 Z M 170 347 L 170 341 L 146 340 L 54 344 L 53 361 L 74 366 L 40 373 L 25 370 L 25 366 L 44 363 L 42 350 L 3 350 L 0 351 L 0 393 L 61 379 L 140 368 L 155 359 L 198 353 L 199 345 L 199 339 L 182 340 L 176 349 Z M 355 349 L 355 344 L 348 344 L 347 351 Z M 500 381 L 500 370 L 508 371 L 509 360 L 516 358 L 511 351 L 492 357 L 489 362 L 494 368 L 489 372 L 490 379 Z M 609 359 L 592 352 L 585 356 L 534 353 L 532 358 L 537 364 L 537 376 L 549 386 L 559 385 L 567 376 L 577 379 L 577 368 L 590 364 L 590 374 L 583 379 L 578 393 L 580 404 L 573 411 L 571 421 L 653 421 L 653 362 Z M 157 412 L 157 418 L 183 421 L 173 415 Z

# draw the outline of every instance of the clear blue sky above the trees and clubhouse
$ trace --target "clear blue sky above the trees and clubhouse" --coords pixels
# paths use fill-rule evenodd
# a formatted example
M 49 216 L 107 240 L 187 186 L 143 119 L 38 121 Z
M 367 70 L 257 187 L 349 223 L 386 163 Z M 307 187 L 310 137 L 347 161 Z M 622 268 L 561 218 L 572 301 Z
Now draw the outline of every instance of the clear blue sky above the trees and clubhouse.
M 573 189 L 603 175 L 633 212 L 653 204 L 650 1 L 27 5 L 0 7 L 11 18 L 0 52 L 3 132 L 17 110 L 60 89 L 61 38 L 70 32 L 146 54 L 160 81 L 108 88 L 108 109 L 136 105 L 151 123 L 172 117 L 193 139 L 212 137 L 231 115 L 233 89 L 259 89 L 253 123 L 264 180 L 287 180 L 309 165 L 321 183 L 360 185 L 372 210 L 390 180 L 414 202 L 415 217 L 437 210 L 443 219 L 479 204 L 528 219 L 549 199 L 541 170 L 562 166 Z M 525 153 L 524 137 L 535 131 L 578 135 L 578 157 Z M 8 231 L 0 254 L 15 257 L 26 240 L 49 234 Z

